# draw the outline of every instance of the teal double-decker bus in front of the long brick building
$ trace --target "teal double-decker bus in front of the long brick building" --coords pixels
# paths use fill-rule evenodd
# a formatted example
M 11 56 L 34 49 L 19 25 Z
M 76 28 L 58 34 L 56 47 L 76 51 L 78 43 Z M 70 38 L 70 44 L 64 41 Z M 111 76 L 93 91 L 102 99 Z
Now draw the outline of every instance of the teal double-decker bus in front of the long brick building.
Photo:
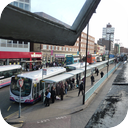
M 66 56 L 66 65 L 79 63 L 79 55 L 67 55 Z

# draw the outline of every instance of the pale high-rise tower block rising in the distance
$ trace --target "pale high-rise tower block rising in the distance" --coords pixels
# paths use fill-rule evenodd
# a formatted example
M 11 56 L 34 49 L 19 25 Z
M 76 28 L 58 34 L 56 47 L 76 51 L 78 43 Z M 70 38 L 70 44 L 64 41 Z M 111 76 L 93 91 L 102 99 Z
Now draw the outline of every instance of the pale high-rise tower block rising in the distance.
M 102 38 L 105 40 L 111 40 L 114 42 L 114 31 L 115 31 L 115 28 L 113 28 L 112 25 L 108 23 L 106 25 L 106 28 L 103 28 Z

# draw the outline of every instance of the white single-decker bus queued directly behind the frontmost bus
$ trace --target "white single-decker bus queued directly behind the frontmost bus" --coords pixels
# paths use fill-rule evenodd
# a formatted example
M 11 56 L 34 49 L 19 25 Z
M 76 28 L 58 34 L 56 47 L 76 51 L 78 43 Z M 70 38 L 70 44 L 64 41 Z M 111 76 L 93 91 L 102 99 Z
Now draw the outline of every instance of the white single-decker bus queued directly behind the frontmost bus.
M 89 65 L 89 63 L 87 62 L 87 66 L 88 65 Z M 70 64 L 70 65 L 66 65 L 64 67 L 66 68 L 66 71 L 69 72 L 69 71 L 72 71 L 72 70 L 76 70 L 76 69 L 85 67 L 85 62 Z

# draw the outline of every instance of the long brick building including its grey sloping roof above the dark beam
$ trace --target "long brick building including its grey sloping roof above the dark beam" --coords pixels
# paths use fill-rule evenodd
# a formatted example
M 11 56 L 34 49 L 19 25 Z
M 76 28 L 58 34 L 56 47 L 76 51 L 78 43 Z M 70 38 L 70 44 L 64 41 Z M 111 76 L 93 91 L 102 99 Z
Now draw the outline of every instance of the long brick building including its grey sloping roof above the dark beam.
M 62 21 L 52 16 L 49 16 L 44 12 L 35 12 L 35 14 L 70 28 L 68 24 L 63 23 Z M 67 46 L 67 45 L 56 46 L 56 45 L 41 44 L 42 59 L 44 62 L 47 62 L 47 61 L 60 62 L 60 61 L 64 61 L 66 55 L 69 55 L 69 54 L 73 54 L 73 55 L 79 54 L 82 59 L 86 54 L 86 40 L 87 40 L 87 34 L 82 32 L 81 36 L 77 39 L 74 46 Z M 88 36 L 88 54 L 94 53 L 94 42 L 95 42 L 95 38 L 89 35 Z M 37 44 L 32 43 L 30 46 L 30 50 L 37 51 L 38 49 L 37 48 L 35 49 L 36 45 Z M 40 47 L 39 44 L 38 44 L 38 47 Z

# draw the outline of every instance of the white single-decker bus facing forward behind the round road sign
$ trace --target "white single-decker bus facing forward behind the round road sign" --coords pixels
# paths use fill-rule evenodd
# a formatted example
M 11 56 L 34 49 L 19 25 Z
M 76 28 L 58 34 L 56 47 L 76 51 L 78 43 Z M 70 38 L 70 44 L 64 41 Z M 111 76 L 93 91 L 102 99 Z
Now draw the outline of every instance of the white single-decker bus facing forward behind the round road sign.
M 63 67 L 51 67 L 12 76 L 10 101 L 19 102 L 19 79 L 23 80 L 23 86 L 21 87 L 21 103 L 34 104 L 41 99 L 42 93 L 45 92 L 43 80 L 64 72 L 66 72 L 66 69 Z

